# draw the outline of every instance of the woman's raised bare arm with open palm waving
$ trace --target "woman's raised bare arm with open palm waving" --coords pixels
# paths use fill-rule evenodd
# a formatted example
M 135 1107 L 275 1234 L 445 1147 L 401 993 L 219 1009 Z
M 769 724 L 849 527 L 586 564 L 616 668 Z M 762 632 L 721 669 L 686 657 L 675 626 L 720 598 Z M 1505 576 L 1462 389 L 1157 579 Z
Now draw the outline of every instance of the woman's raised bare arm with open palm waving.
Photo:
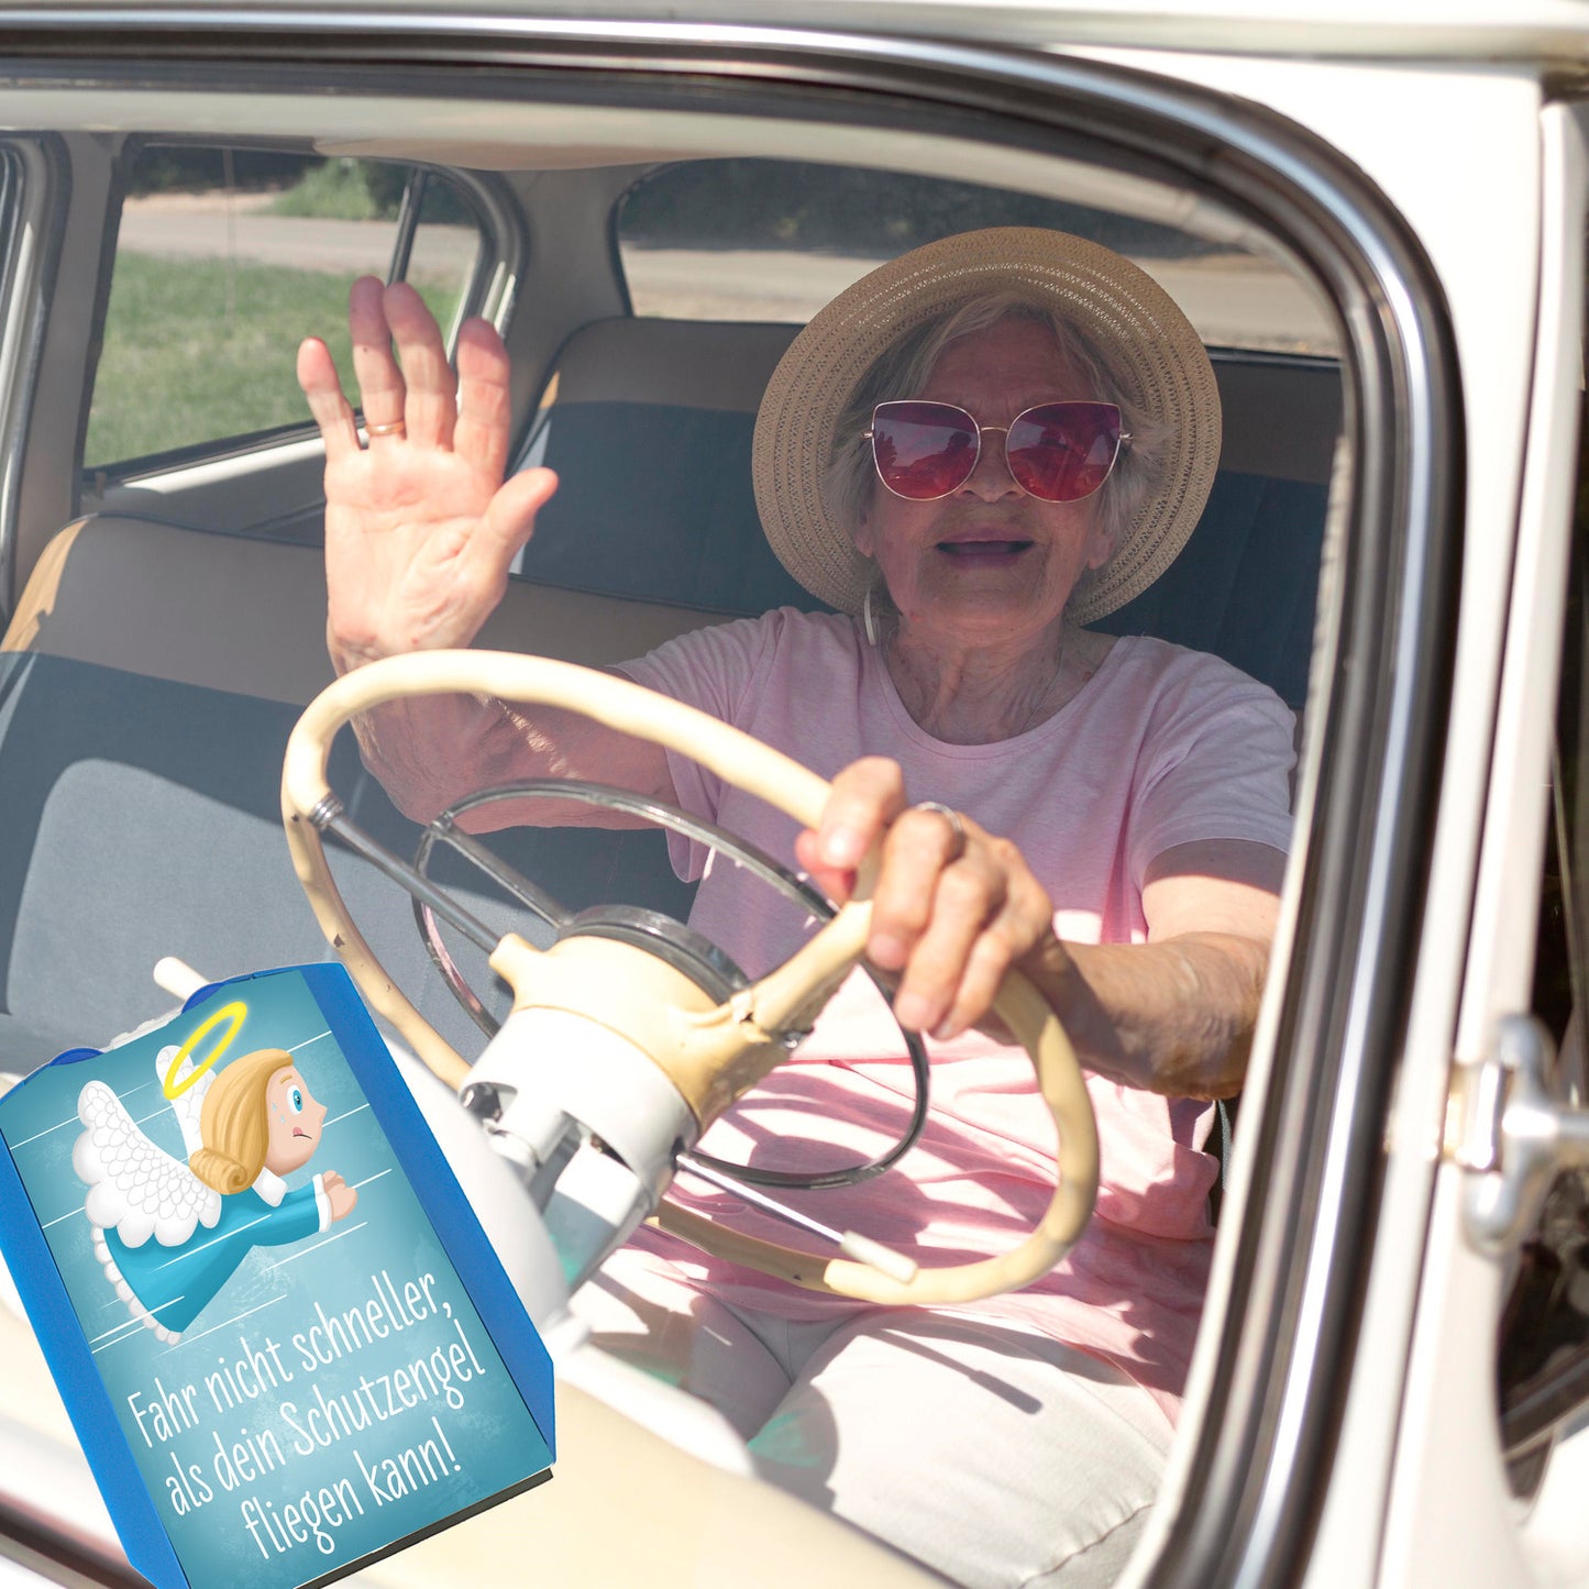
M 348 327 L 369 448 L 326 345 L 307 340 L 297 364 L 326 442 L 326 644 L 338 674 L 380 656 L 469 645 L 558 485 L 548 469 L 502 478 L 508 358 L 493 326 L 462 326 L 454 377 L 418 292 L 365 276 L 350 294 Z M 531 777 L 672 798 L 658 747 L 577 713 L 531 717 L 501 701 L 435 696 L 380 707 L 354 731 L 370 771 L 419 822 L 470 790 Z M 596 820 L 577 810 L 577 820 Z M 491 812 L 497 823 L 555 818 L 545 802 Z

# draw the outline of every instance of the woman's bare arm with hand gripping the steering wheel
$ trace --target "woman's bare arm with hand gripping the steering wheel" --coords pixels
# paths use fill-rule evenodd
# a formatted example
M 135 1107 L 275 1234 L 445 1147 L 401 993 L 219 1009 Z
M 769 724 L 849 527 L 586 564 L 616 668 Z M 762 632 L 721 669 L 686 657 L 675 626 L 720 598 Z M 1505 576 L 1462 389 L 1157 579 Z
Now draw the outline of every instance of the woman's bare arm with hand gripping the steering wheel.
M 869 958 L 899 974 L 906 1026 L 950 1038 L 990 1011 L 1015 966 L 1065 1022 L 1082 1063 L 1171 1096 L 1239 1092 L 1263 992 L 1284 855 L 1263 844 L 1185 844 L 1158 856 L 1142 890 L 1146 944 L 1065 944 L 1054 906 L 1007 839 L 907 810 L 899 767 L 866 758 L 834 779 L 801 864 L 836 898 L 883 836 Z M 893 823 L 888 828 L 888 823 Z

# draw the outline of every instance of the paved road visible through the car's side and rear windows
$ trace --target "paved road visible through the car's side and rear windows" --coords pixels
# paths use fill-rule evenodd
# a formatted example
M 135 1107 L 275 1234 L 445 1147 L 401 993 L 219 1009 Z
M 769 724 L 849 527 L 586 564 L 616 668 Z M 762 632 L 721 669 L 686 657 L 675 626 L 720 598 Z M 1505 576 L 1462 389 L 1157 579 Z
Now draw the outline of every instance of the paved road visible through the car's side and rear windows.
M 129 203 L 121 245 L 141 254 L 251 259 L 264 264 L 385 273 L 392 226 L 227 211 L 172 202 Z M 456 280 L 474 257 L 467 227 L 427 226 L 413 275 Z M 809 319 L 876 261 L 763 249 L 628 249 L 624 267 L 636 311 L 690 319 Z M 1247 256 L 1142 259 L 1181 303 L 1206 342 L 1333 353 L 1328 316 L 1303 286 L 1266 261 Z

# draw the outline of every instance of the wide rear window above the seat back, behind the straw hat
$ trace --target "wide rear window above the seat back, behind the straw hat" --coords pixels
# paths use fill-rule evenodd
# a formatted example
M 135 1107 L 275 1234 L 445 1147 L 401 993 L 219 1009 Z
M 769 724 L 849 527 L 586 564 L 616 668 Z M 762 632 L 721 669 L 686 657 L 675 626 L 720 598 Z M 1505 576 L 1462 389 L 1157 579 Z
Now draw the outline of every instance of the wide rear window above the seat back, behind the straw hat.
M 1077 232 L 1135 259 L 1203 340 L 1336 353 L 1317 300 L 1274 261 L 1173 227 L 1033 194 L 801 160 L 690 160 L 618 215 L 636 315 L 804 323 L 880 259 L 980 226 Z

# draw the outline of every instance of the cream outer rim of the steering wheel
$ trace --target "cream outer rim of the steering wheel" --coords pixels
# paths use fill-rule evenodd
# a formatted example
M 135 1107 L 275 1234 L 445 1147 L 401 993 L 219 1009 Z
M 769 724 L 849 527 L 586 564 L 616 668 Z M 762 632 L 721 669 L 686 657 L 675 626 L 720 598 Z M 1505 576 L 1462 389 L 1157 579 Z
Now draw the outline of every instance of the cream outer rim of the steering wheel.
M 507 651 L 421 651 L 370 663 L 332 683 L 310 702 L 288 740 L 281 815 L 292 864 L 326 939 L 365 998 L 454 1090 L 469 1076 L 467 1063 L 386 976 L 343 904 L 313 820 L 327 801 L 335 799 L 327 783 L 327 764 L 337 731 L 375 706 L 421 694 L 481 694 L 580 712 L 607 728 L 691 756 L 807 828 L 817 825 L 828 799 L 826 780 L 740 729 L 628 679 L 572 663 Z M 869 874 L 863 869 L 863 893 L 866 885 Z M 869 917 L 868 901 L 847 904 L 799 953 L 763 977 L 747 995 L 736 996 L 736 1012 L 726 1025 L 753 1025 L 745 1019 L 747 1009 L 755 1009 L 758 1017 L 766 1009 L 775 1019 L 798 1009 L 802 998 L 809 999 L 815 988 L 826 987 L 860 958 Z M 512 968 L 526 957 L 539 958 L 539 952 L 508 934 L 499 945 L 499 955 L 510 944 L 513 952 L 504 965 L 518 998 L 520 982 Z M 493 957 L 493 965 L 497 965 L 497 957 Z M 763 996 L 763 1003 L 756 1003 L 756 995 Z M 974 1263 L 918 1270 L 912 1279 L 898 1281 L 850 1258 L 812 1257 L 725 1230 L 671 1203 L 663 1204 L 658 1222 L 709 1252 L 809 1290 L 837 1292 L 882 1305 L 972 1301 L 1015 1290 L 1049 1273 L 1076 1244 L 1092 1216 L 1098 1189 L 1096 1123 L 1069 1039 L 1036 988 L 1011 971 L 993 1007 L 1026 1049 L 1038 1090 L 1058 1133 L 1054 1195 L 1036 1227 L 1015 1247 Z M 653 1058 L 664 1071 L 669 1069 L 661 1058 Z M 701 1123 L 704 1128 L 710 1120 L 702 1119 Z

